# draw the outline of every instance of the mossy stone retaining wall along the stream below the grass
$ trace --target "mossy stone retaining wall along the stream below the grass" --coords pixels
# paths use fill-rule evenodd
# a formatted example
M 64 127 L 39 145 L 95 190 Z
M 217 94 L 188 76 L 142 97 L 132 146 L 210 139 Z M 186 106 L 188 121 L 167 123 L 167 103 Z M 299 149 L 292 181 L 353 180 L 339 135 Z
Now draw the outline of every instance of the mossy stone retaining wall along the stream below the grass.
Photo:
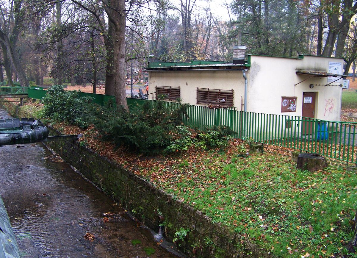
M 14 115 L 23 113 L 9 104 L 7 110 Z M 50 129 L 50 135 L 60 135 Z M 119 164 L 99 156 L 92 150 L 80 146 L 76 141 L 48 142 L 47 145 L 67 163 L 75 167 L 86 178 L 98 185 L 116 202 L 122 204 L 136 218 L 156 232 L 159 216 L 167 240 L 175 238 L 181 228 L 189 232 L 176 245 L 190 257 L 267 257 L 264 250 L 257 249 L 247 239 L 232 229 L 210 218 L 189 205 L 175 199 L 154 185 L 138 177 Z

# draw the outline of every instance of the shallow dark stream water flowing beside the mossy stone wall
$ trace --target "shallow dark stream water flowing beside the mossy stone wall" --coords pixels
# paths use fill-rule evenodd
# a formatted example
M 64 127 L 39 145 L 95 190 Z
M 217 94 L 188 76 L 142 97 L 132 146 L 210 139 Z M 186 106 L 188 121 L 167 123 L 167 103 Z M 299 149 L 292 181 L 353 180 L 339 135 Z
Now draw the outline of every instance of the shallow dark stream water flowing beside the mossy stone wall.
M 0 153 L 0 195 L 22 257 L 176 257 L 42 143 Z

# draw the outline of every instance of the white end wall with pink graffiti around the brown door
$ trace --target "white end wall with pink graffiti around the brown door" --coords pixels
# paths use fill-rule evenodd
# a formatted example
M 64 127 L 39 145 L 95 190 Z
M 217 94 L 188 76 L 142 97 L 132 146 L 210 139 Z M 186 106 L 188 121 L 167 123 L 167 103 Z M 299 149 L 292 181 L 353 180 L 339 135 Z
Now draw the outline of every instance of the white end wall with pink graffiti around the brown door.
M 336 81 L 324 86 L 329 83 L 326 77 L 307 79 L 310 75 L 296 74 L 298 70 L 328 72 L 329 62 L 340 62 L 341 69 L 343 68 L 343 59 L 337 58 L 304 56 L 303 59 L 292 59 L 251 56 L 251 67 L 248 70 L 247 110 L 301 116 L 302 93 L 313 91 L 316 92 L 315 118 L 340 121 L 342 97 L 340 82 Z M 295 84 L 297 85 L 294 86 Z M 312 89 L 309 87 L 310 84 L 314 84 Z M 296 112 L 281 112 L 282 96 L 297 97 Z

